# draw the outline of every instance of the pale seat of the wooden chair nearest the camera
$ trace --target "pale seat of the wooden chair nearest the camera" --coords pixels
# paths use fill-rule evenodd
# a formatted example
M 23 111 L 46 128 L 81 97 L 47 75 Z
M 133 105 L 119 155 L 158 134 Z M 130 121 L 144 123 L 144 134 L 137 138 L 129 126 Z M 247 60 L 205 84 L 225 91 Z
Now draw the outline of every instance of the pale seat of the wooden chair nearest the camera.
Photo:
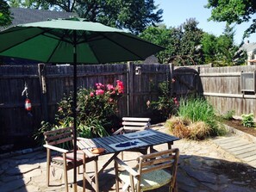
M 128 171 L 122 171 L 119 175 L 122 181 L 124 181 L 125 186 L 130 185 L 130 177 Z M 147 191 L 151 189 L 157 189 L 164 186 L 167 183 L 170 183 L 172 180 L 172 174 L 168 173 L 165 170 L 156 170 L 153 172 L 148 172 L 142 175 L 140 183 L 140 191 Z M 137 181 L 134 180 L 134 184 Z

